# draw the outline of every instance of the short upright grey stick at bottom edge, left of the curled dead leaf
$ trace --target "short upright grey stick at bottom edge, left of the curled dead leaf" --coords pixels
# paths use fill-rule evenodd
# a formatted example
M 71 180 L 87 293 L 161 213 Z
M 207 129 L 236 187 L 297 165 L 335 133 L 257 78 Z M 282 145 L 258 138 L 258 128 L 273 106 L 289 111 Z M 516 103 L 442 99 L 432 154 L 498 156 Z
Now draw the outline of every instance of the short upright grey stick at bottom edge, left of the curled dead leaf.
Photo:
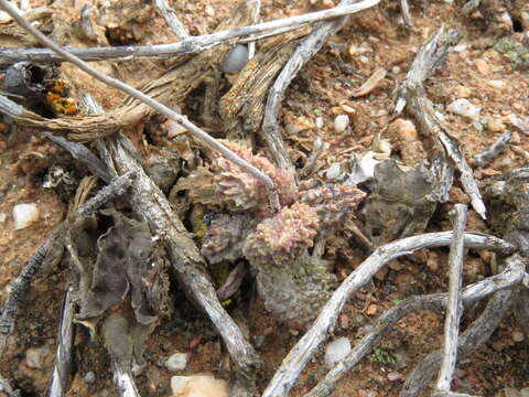
M 52 385 L 47 394 L 48 397 L 63 397 L 66 394 L 72 373 L 75 304 L 71 289 L 66 290 L 62 312 L 57 350 L 55 353 L 55 366 L 53 368 Z

